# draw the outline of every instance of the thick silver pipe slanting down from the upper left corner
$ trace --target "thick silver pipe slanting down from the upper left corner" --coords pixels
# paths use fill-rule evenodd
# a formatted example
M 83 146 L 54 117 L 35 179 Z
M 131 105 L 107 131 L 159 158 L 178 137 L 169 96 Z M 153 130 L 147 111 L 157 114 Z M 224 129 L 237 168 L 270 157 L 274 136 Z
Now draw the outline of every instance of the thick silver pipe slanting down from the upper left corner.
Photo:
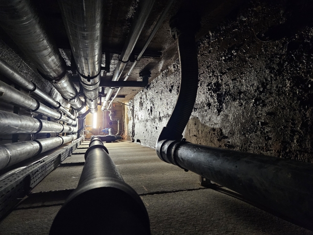
M 43 76 L 78 112 L 84 106 L 70 80 L 58 48 L 48 38 L 44 24 L 30 0 L 0 0 L 1 27 L 35 64 Z

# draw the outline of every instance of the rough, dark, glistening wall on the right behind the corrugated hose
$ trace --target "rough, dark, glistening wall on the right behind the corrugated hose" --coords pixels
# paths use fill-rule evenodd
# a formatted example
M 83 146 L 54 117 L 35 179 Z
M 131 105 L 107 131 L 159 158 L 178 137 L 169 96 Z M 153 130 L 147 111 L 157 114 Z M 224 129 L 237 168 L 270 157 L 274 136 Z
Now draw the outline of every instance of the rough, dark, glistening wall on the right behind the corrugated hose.
M 313 162 L 313 27 L 289 27 L 295 6 L 288 3 L 250 1 L 198 41 L 199 89 L 187 141 Z M 130 101 L 128 138 L 155 146 L 179 79 L 176 61 Z

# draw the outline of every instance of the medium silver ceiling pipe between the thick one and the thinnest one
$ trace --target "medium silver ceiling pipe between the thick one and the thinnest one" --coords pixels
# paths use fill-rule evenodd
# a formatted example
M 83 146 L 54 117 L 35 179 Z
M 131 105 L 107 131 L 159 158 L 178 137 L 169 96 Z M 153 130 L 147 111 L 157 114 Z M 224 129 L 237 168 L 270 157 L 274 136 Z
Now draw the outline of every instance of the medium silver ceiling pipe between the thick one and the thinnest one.
M 119 57 L 119 61 L 116 65 L 112 81 L 118 81 L 120 78 L 122 72 L 124 71 L 124 68 L 126 66 L 126 63 L 129 60 L 129 57 L 131 56 L 133 49 L 137 43 L 137 40 L 139 38 L 139 35 L 142 31 L 143 26 L 145 25 L 148 16 L 151 12 L 151 9 L 153 7 L 153 4 L 155 3 L 155 0 L 140 0 L 138 3 L 138 7 L 136 10 L 136 15 L 132 23 L 131 30 L 128 34 L 128 37 L 126 39 L 125 45 L 123 47 L 122 53 Z M 111 95 L 113 93 L 113 88 L 110 88 L 106 98 L 103 102 L 103 105 L 101 107 L 101 110 L 105 110 L 106 105 L 108 101 L 111 98 Z

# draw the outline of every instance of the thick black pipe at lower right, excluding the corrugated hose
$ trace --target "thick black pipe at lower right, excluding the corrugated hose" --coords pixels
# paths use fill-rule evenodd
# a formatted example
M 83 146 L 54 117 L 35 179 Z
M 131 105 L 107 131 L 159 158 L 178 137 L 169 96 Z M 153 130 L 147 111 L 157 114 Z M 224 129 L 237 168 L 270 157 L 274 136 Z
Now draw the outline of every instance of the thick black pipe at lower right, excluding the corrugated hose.
M 313 229 L 313 164 L 185 141 L 160 141 L 159 156 Z

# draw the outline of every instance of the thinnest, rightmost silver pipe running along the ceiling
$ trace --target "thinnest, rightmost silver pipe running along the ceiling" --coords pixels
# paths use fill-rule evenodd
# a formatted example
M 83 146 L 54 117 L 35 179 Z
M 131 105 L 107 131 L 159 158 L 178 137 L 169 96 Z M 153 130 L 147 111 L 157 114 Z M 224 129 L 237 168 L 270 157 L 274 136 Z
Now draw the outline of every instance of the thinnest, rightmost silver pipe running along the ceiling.
M 154 26 L 154 28 L 152 29 L 145 45 L 143 46 L 143 48 L 141 49 L 140 53 L 138 54 L 136 60 L 134 61 L 131 69 L 128 71 L 128 73 L 126 74 L 126 77 L 124 78 L 124 81 L 126 81 L 129 76 L 131 75 L 132 71 L 134 70 L 135 66 L 137 65 L 137 62 L 140 60 L 141 56 L 143 55 L 143 53 L 145 52 L 145 50 L 147 49 L 148 45 L 150 44 L 151 40 L 153 39 L 153 37 L 156 34 L 156 31 L 158 30 L 158 28 L 161 26 L 161 24 L 163 23 L 165 16 L 167 15 L 167 12 L 169 11 L 169 9 L 171 8 L 171 5 L 173 4 L 174 0 L 169 0 L 165 6 L 165 9 L 163 10 L 160 18 L 158 18 L 156 25 Z M 117 94 L 119 93 L 119 91 L 121 90 L 121 88 L 118 88 L 117 92 L 115 93 L 114 97 L 112 98 L 108 109 L 111 107 L 113 100 L 115 99 L 115 97 L 117 96 Z M 112 91 L 113 92 L 113 91 Z

